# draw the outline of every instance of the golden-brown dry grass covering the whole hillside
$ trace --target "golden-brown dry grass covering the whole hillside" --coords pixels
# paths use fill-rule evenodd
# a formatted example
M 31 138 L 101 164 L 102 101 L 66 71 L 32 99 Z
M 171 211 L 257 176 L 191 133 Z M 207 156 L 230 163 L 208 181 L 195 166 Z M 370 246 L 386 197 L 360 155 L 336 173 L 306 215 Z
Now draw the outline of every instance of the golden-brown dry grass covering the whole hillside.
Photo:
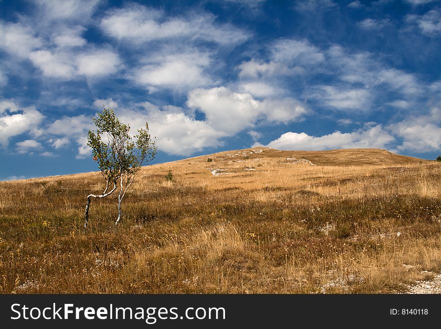
M 98 173 L 0 182 L 0 292 L 394 293 L 441 270 L 439 169 L 376 149 L 217 153 L 144 168 L 123 222 L 111 196 L 87 230 Z

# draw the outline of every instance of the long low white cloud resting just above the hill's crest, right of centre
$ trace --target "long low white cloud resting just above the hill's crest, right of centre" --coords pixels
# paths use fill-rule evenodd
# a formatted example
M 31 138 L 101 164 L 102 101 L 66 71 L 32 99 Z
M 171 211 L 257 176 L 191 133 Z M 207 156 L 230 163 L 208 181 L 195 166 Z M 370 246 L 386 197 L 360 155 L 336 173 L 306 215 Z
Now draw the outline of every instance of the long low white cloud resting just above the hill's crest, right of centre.
M 321 137 L 306 133 L 288 132 L 270 142 L 267 147 L 280 150 L 329 150 L 340 148 L 385 148 L 394 141 L 381 125 L 352 133 L 336 131 Z

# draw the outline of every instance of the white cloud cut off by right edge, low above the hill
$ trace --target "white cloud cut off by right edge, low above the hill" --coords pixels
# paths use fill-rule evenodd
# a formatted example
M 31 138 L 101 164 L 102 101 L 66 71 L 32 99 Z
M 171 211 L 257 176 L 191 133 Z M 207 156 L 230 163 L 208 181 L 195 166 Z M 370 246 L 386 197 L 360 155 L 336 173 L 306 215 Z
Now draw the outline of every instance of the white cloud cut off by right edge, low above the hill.
M 388 126 L 403 142 L 398 150 L 424 153 L 441 149 L 441 109 L 433 108 L 428 115 L 412 116 Z

